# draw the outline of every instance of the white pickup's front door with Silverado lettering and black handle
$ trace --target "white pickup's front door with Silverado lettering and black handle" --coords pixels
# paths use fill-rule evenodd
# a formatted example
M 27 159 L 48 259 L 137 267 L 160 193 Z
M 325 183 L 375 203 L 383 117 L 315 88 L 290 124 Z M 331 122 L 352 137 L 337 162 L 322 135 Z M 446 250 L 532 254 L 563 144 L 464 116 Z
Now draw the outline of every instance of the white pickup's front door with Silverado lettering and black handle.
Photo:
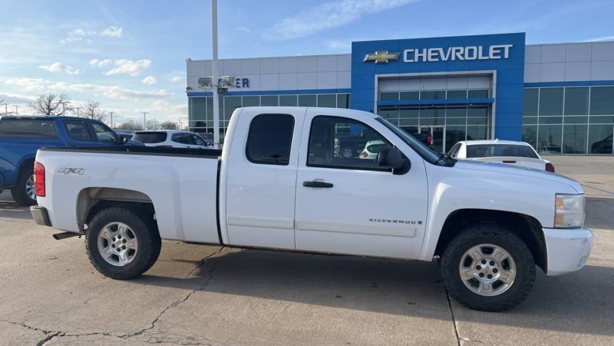
M 418 256 L 428 199 L 423 159 L 372 117 L 361 122 L 315 112 L 308 110 L 301 140 L 296 249 Z M 363 138 L 365 133 L 370 137 Z M 348 157 L 336 150 L 339 143 L 362 147 L 353 147 L 356 154 Z M 391 145 L 411 160 L 409 172 L 393 174 L 378 166 L 378 152 Z

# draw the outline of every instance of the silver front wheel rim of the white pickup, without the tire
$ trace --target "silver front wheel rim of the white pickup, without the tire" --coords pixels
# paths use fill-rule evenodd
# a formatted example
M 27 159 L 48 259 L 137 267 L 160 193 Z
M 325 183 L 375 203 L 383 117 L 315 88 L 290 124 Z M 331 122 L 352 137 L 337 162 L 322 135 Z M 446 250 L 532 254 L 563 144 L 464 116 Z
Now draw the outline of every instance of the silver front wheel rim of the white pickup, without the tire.
M 503 247 L 479 244 L 460 257 L 460 280 L 478 295 L 492 297 L 512 287 L 516 277 L 514 259 Z

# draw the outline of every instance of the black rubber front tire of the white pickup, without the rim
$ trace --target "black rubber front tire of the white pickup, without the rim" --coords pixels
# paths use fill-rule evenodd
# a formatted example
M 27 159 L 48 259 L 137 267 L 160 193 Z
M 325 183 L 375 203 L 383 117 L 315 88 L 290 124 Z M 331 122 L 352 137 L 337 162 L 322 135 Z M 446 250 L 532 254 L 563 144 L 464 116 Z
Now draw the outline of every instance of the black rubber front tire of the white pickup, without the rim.
M 473 292 L 465 286 L 460 277 L 460 261 L 466 259 L 463 255 L 480 244 L 502 247 L 515 262 L 515 279 L 507 290 L 498 295 L 484 296 Z M 473 310 L 498 312 L 511 309 L 525 300 L 535 282 L 533 254 L 513 232 L 496 224 L 476 224 L 464 229 L 449 242 L 441 255 L 440 264 L 448 293 L 460 304 Z M 466 262 L 463 262 L 463 265 L 466 265 Z M 476 269 L 478 265 L 479 263 Z M 473 270 L 473 266 L 468 269 Z M 475 282 L 479 283 L 477 279 Z M 471 280 L 468 282 L 471 283 Z

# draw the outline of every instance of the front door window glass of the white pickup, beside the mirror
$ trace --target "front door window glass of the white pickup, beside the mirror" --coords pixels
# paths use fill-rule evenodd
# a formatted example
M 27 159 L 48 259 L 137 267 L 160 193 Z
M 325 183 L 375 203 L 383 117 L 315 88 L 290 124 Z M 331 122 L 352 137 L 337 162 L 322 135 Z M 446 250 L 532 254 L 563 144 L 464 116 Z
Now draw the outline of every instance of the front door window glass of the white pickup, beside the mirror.
M 311 122 L 307 165 L 388 171 L 377 163 L 378 153 L 383 147 L 392 145 L 362 122 L 318 116 Z

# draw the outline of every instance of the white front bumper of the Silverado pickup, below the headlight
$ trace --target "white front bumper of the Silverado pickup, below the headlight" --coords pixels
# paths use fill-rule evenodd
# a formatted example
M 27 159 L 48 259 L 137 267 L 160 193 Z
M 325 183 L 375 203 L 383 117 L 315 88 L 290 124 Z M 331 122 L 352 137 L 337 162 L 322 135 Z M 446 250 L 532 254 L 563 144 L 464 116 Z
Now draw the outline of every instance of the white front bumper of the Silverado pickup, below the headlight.
M 593 248 L 590 229 L 544 228 L 543 234 L 548 253 L 546 275 L 563 275 L 584 267 Z

